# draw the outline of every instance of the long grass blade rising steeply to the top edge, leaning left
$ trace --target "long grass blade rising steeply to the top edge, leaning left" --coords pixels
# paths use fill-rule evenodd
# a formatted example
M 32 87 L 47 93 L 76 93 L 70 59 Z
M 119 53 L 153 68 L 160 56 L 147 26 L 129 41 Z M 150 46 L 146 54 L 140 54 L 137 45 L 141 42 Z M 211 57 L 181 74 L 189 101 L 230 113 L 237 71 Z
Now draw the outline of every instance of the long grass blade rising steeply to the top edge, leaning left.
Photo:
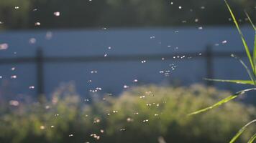
M 247 43 L 246 43 L 246 41 L 245 41 L 245 39 L 244 39 L 244 35 L 242 34 L 242 31 L 241 31 L 241 29 L 240 29 L 240 27 L 239 27 L 239 25 L 238 25 L 238 23 L 237 23 L 237 19 L 236 19 L 236 17 L 234 16 L 233 11 L 232 11 L 232 9 L 230 8 L 229 4 L 227 3 L 227 0 L 224 0 L 224 1 L 225 1 L 225 4 L 227 5 L 227 8 L 229 9 L 229 13 L 230 13 L 231 16 L 232 16 L 232 19 L 233 19 L 233 21 L 234 21 L 234 24 L 235 24 L 236 27 L 237 27 L 237 30 L 238 30 L 238 32 L 239 32 L 239 35 L 241 36 L 242 44 L 244 44 L 244 49 L 245 49 L 245 51 L 246 51 L 247 57 L 248 57 L 248 59 L 249 59 L 249 61 L 250 61 L 250 64 L 251 64 L 251 66 L 252 66 L 253 74 L 255 74 L 255 67 L 254 67 L 254 64 L 253 64 L 253 62 L 252 62 L 252 56 L 251 56 L 251 54 L 250 54 L 249 47 L 248 47 L 248 45 L 247 45 Z

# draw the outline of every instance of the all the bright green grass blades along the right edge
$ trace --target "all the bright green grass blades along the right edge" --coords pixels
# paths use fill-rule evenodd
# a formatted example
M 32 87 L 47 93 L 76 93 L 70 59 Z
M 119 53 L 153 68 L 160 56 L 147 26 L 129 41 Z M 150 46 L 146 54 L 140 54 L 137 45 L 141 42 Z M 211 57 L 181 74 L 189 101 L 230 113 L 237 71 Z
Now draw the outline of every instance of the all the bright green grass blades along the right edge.
M 244 50 L 245 50 L 245 52 L 247 54 L 248 60 L 250 61 L 250 68 L 248 68 L 248 66 L 246 64 L 244 64 L 244 61 L 239 59 L 237 56 L 234 56 L 234 54 L 232 54 L 232 56 L 234 56 L 236 59 L 238 59 L 240 61 L 240 63 L 242 64 L 242 66 L 244 66 L 244 69 L 246 69 L 247 74 L 250 77 L 250 80 L 249 79 L 248 80 L 206 79 L 206 80 L 214 81 L 214 82 L 230 82 L 230 83 L 234 83 L 234 84 L 250 84 L 254 88 L 244 89 L 242 91 L 239 91 L 239 92 L 235 93 L 232 96 L 229 96 L 227 98 L 222 99 L 221 101 L 217 102 L 216 104 L 213 104 L 210 107 L 206 107 L 204 109 L 199 109 L 198 111 L 192 112 L 191 114 L 188 114 L 188 115 L 194 115 L 194 114 L 199 114 L 199 113 L 202 113 L 202 112 L 206 112 L 206 111 L 208 111 L 210 109 L 214 109 L 215 107 L 219 107 L 219 106 L 221 106 L 221 104 L 227 103 L 227 102 L 229 102 L 229 101 L 239 97 L 240 95 L 244 94 L 245 92 L 250 92 L 252 90 L 256 90 L 256 82 L 255 82 L 256 81 L 256 27 L 255 27 L 255 24 L 253 24 L 252 19 L 250 19 L 249 14 L 247 14 L 247 12 L 245 11 L 245 14 L 246 14 L 247 18 L 250 21 L 250 24 L 252 25 L 252 27 L 253 27 L 253 29 L 255 31 L 255 42 L 254 42 L 254 47 L 253 47 L 253 53 L 251 55 L 249 46 L 248 46 L 247 42 L 244 39 L 244 35 L 242 34 L 242 31 L 241 31 L 241 29 L 239 27 L 237 19 L 234 16 L 234 13 L 233 13 L 231 7 L 229 6 L 227 0 L 224 0 L 224 1 L 225 1 L 225 4 L 227 5 L 227 9 L 229 9 L 229 13 L 232 16 L 234 24 L 237 27 L 237 31 L 239 32 L 239 35 L 240 35 L 240 37 L 242 39 L 242 44 L 244 45 Z M 237 132 L 237 134 L 235 134 L 235 136 L 231 139 L 231 141 L 229 143 L 235 142 L 237 140 L 237 138 L 244 132 L 244 130 L 247 129 L 247 127 L 250 126 L 250 124 L 253 124 L 255 122 L 256 122 L 256 119 L 252 120 L 252 122 L 249 122 L 244 127 L 242 127 L 242 129 L 240 129 L 239 132 Z M 248 143 L 254 142 L 255 139 L 256 139 L 256 134 L 254 134 L 250 138 Z

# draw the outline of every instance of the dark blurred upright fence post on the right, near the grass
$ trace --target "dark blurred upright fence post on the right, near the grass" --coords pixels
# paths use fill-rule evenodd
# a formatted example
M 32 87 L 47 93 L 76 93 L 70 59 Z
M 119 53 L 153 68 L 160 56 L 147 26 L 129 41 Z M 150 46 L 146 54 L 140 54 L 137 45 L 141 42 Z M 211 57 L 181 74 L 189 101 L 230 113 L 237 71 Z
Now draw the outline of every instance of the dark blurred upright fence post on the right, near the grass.
M 214 64 L 213 64 L 213 51 L 210 45 L 206 46 L 206 78 L 213 79 L 214 78 Z M 212 81 L 206 81 L 207 86 L 214 85 Z

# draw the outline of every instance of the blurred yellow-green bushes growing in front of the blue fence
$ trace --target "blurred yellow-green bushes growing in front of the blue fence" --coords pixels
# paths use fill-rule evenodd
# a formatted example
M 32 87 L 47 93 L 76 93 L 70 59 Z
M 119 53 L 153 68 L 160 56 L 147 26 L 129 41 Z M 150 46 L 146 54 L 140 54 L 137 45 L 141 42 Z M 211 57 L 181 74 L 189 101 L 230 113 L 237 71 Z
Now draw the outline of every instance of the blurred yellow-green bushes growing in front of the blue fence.
M 256 117 L 255 107 L 229 102 L 201 116 L 186 116 L 227 95 L 196 84 L 148 85 L 117 98 L 94 94 L 88 101 L 73 85 L 63 86 L 45 104 L 1 107 L 0 142 L 228 142 Z M 255 129 L 247 129 L 238 142 L 246 142 Z

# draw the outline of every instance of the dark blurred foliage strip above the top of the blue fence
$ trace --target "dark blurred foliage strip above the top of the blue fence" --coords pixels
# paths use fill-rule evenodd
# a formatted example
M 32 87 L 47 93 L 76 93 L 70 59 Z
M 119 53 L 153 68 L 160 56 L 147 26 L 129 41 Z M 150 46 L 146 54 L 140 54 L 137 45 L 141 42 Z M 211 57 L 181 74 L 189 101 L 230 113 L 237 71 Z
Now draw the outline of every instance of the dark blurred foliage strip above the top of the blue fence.
M 230 0 L 229 4 L 240 22 L 246 17 L 243 9 L 256 19 L 255 0 Z M 60 16 L 54 16 L 55 11 Z M 229 17 L 223 0 L 0 1 L 0 29 L 32 29 L 37 21 L 41 23 L 37 28 L 212 25 L 230 24 Z

